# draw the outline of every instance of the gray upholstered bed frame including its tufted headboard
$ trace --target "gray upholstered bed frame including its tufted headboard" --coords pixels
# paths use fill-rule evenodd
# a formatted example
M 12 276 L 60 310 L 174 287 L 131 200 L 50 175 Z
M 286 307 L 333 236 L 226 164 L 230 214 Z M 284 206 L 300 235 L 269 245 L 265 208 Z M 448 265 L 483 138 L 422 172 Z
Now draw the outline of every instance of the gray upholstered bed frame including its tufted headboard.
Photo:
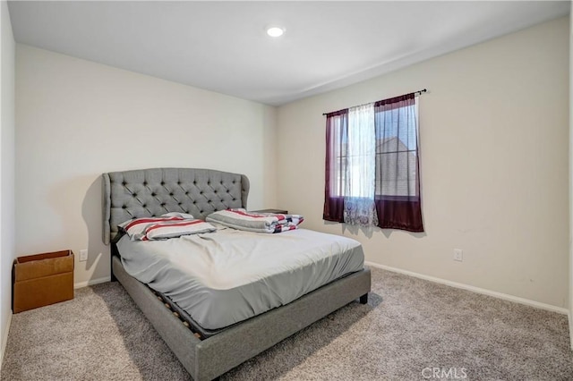
M 209 169 L 154 168 L 103 174 L 103 240 L 130 218 L 184 212 L 204 218 L 227 207 L 246 207 L 249 181 Z M 195 380 L 216 378 L 245 360 L 360 298 L 367 301 L 370 270 L 347 275 L 278 309 L 200 340 L 150 289 L 128 275 L 112 245 L 112 279 L 123 284 L 171 351 Z

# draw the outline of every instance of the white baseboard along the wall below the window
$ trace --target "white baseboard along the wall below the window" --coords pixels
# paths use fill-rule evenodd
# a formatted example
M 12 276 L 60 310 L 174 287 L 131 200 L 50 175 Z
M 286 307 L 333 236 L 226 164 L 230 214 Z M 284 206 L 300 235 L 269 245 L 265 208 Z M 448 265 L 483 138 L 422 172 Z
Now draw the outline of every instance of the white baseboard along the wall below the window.
M 430 276 L 430 275 L 418 274 L 418 273 L 415 273 L 413 271 L 402 270 L 402 269 L 396 268 L 396 267 L 379 265 L 377 263 L 373 263 L 373 262 L 369 262 L 369 261 L 365 261 L 364 264 L 366 266 L 378 267 L 378 268 L 381 268 L 383 270 L 392 271 L 394 273 L 414 276 L 416 278 L 424 279 L 426 281 L 435 282 L 437 284 L 446 284 L 446 285 L 449 285 L 451 287 L 460 288 L 462 290 L 482 293 L 483 295 L 493 296 L 495 298 L 503 299 L 505 301 L 515 301 L 516 303 L 525 304 L 526 306 L 535 307 L 537 309 L 545 309 L 548 311 L 558 312 L 558 313 L 564 314 L 564 315 L 569 315 L 569 309 L 563 309 L 561 307 L 552 306 L 551 304 L 545 304 L 545 303 L 541 303 L 539 301 L 530 301 L 528 299 L 519 298 L 518 296 L 509 295 L 507 293 L 486 290 L 486 289 L 475 287 L 475 286 L 472 286 L 469 284 L 458 284 L 458 282 L 447 281 L 445 279 L 436 278 L 436 277 Z M 572 345 L 573 345 L 573 342 L 572 342 Z

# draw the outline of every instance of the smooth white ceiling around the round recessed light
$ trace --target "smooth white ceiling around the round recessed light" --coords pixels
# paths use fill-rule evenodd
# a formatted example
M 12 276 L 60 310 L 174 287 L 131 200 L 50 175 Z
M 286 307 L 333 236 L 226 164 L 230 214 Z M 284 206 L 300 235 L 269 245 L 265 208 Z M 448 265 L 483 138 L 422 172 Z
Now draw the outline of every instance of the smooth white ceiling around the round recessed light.
M 9 10 L 16 42 L 282 105 L 566 15 L 569 1 L 11 1 Z M 285 35 L 269 38 L 269 24 Z

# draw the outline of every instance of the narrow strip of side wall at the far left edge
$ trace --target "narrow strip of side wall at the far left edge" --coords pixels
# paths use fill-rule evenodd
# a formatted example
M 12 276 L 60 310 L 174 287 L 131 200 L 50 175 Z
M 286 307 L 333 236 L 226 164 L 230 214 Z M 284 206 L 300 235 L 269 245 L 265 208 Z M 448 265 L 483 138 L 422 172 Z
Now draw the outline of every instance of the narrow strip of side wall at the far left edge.
M 14 237 L 14 51 L 15 44 L 8 4 L 0 3 L 2 32 L 0 94 L 0 366 L 12 317 L 12 262 Z

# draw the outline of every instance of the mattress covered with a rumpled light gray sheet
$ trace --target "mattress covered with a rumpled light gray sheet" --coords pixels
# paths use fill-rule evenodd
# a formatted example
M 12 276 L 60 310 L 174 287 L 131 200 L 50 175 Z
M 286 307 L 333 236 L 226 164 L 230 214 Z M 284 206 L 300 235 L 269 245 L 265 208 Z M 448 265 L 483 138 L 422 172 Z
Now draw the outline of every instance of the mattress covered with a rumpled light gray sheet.
M 306 229 L 268 234 L 218 225 L 215 233 L 117 242 L 125 271 L 216 330 L 295 301 L 363 269 L 350 238 Z

